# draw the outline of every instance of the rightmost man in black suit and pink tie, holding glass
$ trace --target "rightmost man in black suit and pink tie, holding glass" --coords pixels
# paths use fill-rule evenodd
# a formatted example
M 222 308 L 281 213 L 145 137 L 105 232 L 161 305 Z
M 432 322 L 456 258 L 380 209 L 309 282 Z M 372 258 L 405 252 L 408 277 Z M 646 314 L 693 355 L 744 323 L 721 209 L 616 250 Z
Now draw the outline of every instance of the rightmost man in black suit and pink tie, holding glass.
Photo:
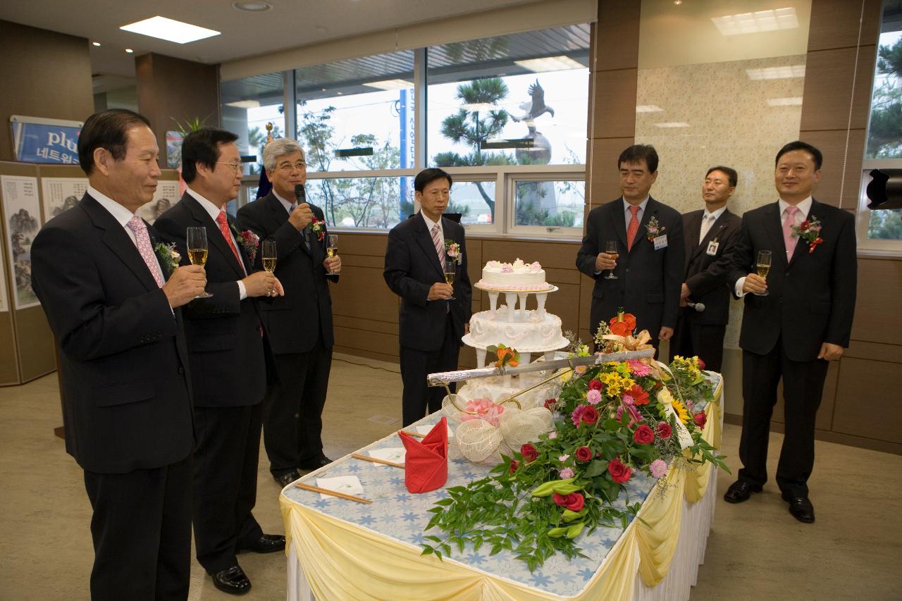
M 768 479 L 770 415 L 782 378 L 786 434 L 777 484 L 800 522 L 815 521 L 807 485 L 815 464 L 815 414 L 827 362 L 849 346 L 857 279 L 854 217 L 811 196 L 822 163 L 811 144 L 780 149 L 774 177 L 779 199 L 742 216 L 731 273 L 733 290 L 745 298 L 739 340 L 743 467 L 723 498 L 746 501 Z M 772 254 L 766 279 L 755 273 L 764 250 Z

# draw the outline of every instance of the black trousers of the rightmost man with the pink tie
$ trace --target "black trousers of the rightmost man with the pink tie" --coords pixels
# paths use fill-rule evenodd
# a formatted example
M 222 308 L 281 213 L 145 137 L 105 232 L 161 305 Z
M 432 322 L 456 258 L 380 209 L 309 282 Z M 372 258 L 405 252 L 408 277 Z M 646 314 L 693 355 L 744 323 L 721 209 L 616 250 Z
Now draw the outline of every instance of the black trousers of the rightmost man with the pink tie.
M 815 465 L 815 416 L 824 393 L 829 363 L 824 359 L 792 361 L 783 338 L 767 355 L 742 351 L 742 434 L 739 478 L 751 485 L 768 480 L 770 417 L 783 379 L 786 434 L 777 466 L 777 484 L 789 496 L 808 496 L 808 476 Z

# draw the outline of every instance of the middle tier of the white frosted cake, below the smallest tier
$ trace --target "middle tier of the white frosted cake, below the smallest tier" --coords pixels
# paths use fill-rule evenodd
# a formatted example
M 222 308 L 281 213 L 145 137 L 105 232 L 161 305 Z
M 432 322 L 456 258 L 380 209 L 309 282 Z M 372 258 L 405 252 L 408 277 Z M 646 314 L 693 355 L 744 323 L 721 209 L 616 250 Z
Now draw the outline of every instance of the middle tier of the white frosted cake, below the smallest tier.
M 509 309 L 502 305 L 497 315 L 480 311 L 470 318 L 470 334 L 465 343 L 472 347 L 503 344 L 521 353 L 536 353 L 566 347 L 569 341 L 561 333 L 561 319 L 536 310 L 515 310 L 509 320 Z

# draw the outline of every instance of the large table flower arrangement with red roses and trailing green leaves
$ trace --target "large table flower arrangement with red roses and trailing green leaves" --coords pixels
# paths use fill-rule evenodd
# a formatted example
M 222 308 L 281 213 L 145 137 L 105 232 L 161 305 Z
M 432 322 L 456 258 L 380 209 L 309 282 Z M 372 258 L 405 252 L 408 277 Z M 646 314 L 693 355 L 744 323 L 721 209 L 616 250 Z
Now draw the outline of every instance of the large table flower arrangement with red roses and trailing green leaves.
M 695 357 L 676 357 L 666 370 L 640 361 L 589 366 L 546 402 L 553 430 L 437 501 L 427 530 L 441 535 L 426 536 L 422 552 L 441 558 L 485 545 L 512 551 L 530 570 L 557 552 L 580 555 L 581 534 L 625 528 L 639 511 L 640 503 L 615 506 L 637 473 L 663 479 L 668 466 L 706 462 L 726 469 L 702 438 L 704 411 L 695 411 L 712 399 Z

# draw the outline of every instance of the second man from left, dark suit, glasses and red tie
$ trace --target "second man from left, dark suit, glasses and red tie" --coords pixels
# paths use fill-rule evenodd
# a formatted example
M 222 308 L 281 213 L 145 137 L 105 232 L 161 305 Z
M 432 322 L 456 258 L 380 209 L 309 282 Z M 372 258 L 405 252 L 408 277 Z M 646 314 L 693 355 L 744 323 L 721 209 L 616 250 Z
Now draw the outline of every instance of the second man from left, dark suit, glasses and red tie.
M 194 415 L 194 546 L 216 588 L 241 594 L 251 581 L 236 553 L 285 548 L 285 537 L 263 534 L 253 517 L 257 499 L 262 399 L 268 349 L 255 298 L 281 293 L 272 273 L 253 271 L 248 253 L 259 241 L 242 236 L 224 210 L 241 187 L 238 136 L 219 129 L 191 132 L 181 147 L 181 201 L 154 222 L 188 263 L 186 231 L 207 231 L 207 292 L 185 307 Z

